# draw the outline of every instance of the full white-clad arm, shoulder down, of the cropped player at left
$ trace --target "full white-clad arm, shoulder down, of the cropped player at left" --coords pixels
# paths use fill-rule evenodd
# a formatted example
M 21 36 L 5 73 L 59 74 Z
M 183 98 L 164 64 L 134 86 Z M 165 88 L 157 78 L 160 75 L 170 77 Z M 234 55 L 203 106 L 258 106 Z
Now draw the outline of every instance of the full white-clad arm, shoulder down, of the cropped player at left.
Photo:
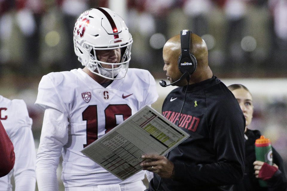
M 31 130 L 32 119 L 29 117 L 27 106 L 23 100 L 11 101 L 13 123 L 11 127 L 11 141 L 14 145 L 15 164 L 13 176 L 15 179 L 15 191 L 35 190 L 36 152 L 34 138 Z

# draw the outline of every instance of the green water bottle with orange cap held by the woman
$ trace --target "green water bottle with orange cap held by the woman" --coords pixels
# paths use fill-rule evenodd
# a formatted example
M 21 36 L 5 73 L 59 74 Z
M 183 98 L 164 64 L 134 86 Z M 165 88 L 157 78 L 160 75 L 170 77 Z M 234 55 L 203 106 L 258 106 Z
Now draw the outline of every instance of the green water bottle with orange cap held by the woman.
M 261 135 L 259 139 L 256 139 L 255 155 L 257 161 L 265 162 L 271 166 L 273 165 L 272 147 L 270 139 L 265 138 L 264 135 Z M 266 181 L 262 179 L 259 179 L 258 181 L 261 187 L 267 187 Z

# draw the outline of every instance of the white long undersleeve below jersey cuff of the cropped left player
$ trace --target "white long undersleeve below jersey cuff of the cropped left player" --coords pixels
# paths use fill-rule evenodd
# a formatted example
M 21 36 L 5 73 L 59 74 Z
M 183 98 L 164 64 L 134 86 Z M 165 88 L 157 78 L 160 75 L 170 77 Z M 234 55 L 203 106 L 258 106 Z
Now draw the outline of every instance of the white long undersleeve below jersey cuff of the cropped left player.
M 13 168 L 15 191 L 32 191 L 36 185 L 36 153 L 31 127 L 21 127 L 15 135 L 11 138 L 16 157 Z

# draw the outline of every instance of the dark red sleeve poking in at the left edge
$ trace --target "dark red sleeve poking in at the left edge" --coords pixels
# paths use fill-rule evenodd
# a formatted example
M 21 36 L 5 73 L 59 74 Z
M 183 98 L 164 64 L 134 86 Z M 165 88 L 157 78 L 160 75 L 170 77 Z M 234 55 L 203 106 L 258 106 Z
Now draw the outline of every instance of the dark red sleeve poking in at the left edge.
M 0 177 L 7 175 L 14 166 L 13 144 L 0 121 Z

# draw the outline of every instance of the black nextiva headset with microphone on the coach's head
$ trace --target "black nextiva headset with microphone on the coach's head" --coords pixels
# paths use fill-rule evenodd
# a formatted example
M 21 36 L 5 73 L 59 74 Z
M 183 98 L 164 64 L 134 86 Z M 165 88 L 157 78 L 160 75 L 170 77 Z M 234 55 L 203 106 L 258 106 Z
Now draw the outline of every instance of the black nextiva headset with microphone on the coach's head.
M 161 80 L 159 84 L 162 87 L 167 87 L 172 84 L 175 84 L 178 81 L 183 80 L 184 78 L 189 81 L 189 77 L 194 73 L 197 67 L 197 60 L 195 56 L 190 53 L 190 42 L 191 39 L 191 31 L 190 30 L 182 30 L 180 32 L 180 43 L 181 43 L 181 55 L 178 57 L 178 69 L 183 74 L 177 81 L 174 81 L 167 85 L 164 80 Z

